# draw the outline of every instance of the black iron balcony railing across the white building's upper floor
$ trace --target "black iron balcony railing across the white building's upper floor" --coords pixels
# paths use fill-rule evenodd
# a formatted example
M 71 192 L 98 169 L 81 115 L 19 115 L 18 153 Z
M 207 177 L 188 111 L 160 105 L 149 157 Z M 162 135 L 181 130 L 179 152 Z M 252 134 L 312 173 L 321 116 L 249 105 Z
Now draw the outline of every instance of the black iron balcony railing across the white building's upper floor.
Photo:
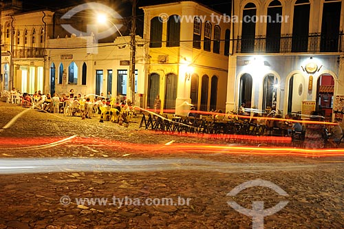
M 344 34 L 308 36 L 283 34 L 279 37 L 241 37 L 237 39 L 237 53 L 344 52 Z

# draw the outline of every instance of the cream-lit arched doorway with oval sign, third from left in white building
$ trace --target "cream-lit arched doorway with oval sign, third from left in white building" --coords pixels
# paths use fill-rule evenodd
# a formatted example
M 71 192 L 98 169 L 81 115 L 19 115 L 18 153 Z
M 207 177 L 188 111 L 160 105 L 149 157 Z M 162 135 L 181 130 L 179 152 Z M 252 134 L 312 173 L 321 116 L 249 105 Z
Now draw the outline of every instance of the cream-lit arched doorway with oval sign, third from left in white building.
M 288 87 L 288 113 L 301 113 L 302 100 L 305 99 L 307 86 L 301 74 L 290 77 Z

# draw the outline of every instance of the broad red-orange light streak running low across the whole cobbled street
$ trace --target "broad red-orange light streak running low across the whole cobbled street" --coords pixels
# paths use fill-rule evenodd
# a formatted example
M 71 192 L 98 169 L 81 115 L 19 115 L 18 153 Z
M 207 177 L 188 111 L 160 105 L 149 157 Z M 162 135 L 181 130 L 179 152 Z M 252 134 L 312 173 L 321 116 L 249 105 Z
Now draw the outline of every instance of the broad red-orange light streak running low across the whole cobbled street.
M 259 136 L 241 136 L 242 139 L 248 137 L 259 137 Z M 271 138 L 270 136 L 264 136 L 266 139 Z M 210 137 L 209 137 L 210 138 Z M 273 137 L 280 138 L 280 137 Z M 283 138 L 283 137 L 282 137 Z M 61 140 L 62 138 L 0 138 L 0 144 L 6 144 L 6 146 L 13 145 L 18 146 L 18 142 L 25 142 L 25 146 L 37 145 L 37 144 L 48 144 Z M 284 138 L 283 138 L 284 139 Z M 281 141 L 282 142 L 282 141 Z M 166 153 L 193 153 L 193 154 L 213 154 L 223 153 L 232 155 L 290 155 L 290 156 L 302 156 L 302 157 L 337 157 L 344 156 L 344 149 L 300 149 L 294 147 L 260 147 L 260 146 L 228 146 L 223 144 L 182 144 L 182 143 L 171 143 L 171 144 L 138 144 L 131 142 L 122 142 L 118 140 L 106 140 L 101 138 L 73 138 L 66 144 L 92 144 L 93 147 L 104 147 L 114 151 L 120 151 L 122 153 L 153 153 L 153 154 L 166 154 Z M 63 144 L 61 146 L 63 147 Z M 0 147 L 1 149 L 1 147 Z

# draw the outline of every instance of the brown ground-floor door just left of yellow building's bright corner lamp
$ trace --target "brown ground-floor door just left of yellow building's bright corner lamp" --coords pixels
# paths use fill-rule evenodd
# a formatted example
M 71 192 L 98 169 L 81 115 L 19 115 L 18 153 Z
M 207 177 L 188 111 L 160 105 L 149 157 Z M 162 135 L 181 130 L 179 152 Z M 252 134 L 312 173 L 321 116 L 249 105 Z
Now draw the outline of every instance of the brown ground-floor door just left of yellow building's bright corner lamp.
M 164 109 L 175 109 L 177 98 L 177 75 L 170 73 L 166 75 Z

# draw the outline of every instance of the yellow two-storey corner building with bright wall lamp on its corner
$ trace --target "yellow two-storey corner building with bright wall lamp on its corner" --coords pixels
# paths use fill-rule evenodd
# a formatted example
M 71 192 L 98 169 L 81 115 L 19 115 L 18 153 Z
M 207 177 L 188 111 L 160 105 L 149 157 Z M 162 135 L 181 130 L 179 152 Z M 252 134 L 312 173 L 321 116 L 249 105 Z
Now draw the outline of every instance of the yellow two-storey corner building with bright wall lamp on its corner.
M 144 6 L 147 107 L 156 96 L 165 111 L 225 109 L 230 24 L 193 1 Z

